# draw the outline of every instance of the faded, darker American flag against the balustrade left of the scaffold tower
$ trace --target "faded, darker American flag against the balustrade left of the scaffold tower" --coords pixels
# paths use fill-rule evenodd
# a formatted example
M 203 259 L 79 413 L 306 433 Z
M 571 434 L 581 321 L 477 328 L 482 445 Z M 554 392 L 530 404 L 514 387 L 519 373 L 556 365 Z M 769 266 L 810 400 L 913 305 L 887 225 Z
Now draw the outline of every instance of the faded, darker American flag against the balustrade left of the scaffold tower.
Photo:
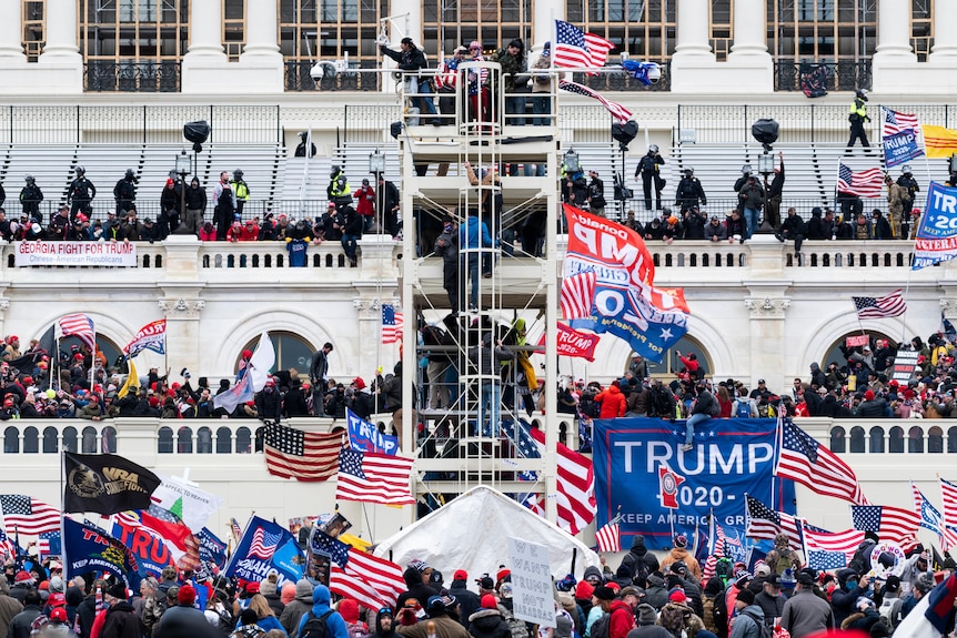
M 273 476 L 326 480 L 339 467 L 342 435 L 302 432 L 279 423 L 263 432 L 265 467 Z

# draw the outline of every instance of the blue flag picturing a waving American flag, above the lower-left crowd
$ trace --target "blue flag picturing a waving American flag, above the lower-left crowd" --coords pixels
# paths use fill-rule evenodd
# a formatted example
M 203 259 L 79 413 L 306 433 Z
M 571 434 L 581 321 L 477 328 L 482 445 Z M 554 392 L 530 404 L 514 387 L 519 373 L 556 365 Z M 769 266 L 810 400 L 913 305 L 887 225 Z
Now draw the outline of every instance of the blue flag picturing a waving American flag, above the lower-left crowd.
M 281 586 L 286 580 L 295 583 L 302 578 L 304 565 L 305 556 L 288 529 L 253 516 L 224 575 L 259 581 L 275 570 Z

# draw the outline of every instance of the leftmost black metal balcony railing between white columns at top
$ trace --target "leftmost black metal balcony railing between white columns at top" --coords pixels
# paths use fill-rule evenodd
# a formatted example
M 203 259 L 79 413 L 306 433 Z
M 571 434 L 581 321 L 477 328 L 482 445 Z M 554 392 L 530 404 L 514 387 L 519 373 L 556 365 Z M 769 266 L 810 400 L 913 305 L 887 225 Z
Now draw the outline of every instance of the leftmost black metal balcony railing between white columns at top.
M 89 60 L 83 64 L 83 90 L 178 93 L 181 75 L 180 62 L 177 60 Z

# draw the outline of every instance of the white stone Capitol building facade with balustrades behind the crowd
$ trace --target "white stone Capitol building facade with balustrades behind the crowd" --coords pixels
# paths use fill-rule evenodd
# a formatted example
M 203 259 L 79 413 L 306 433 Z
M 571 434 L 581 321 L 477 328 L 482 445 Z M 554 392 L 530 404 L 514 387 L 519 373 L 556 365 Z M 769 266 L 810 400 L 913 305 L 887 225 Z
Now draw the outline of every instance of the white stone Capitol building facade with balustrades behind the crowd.
M 780 132 L 773 153 L 786 165 L 780 210 L 794 206 L 807 220 L 815 206 L 838 209 L 839 163 L 885 169 L 882 108 L 957 129 L 957 3 L 944 0 L 0 0 L 0 183 L 8 220 L 19 216 L 24 175 L 43 190 L 46 221 L 67 202 L 82 166 L 98 189 L 93 220 L 105 221 L 114 210 L 112 186 L 127 170 L 138 180 L 140 217 L 155 219 L 171 171 L 188 183 L 198 178 L 212 196 L 220 173 L 239 169 L 250 189 L 244 221 L 271 213 L 312 222 L 326 212 L 331 168 L 341 166 L 353 191 L 369 179 L 382 198 L 376 178 L 394 183 L 403 224 L 397 236 L 375 232 L 380 225 L 365 233 L 354 267 L 338 241 L 312 242 L 304 267 L 292 267 L 283 242 L 200 242 L 173 234 L 138 243 L 124 265 L 36 265 L 18 242 L 9 242 L 0 246 L 0 335 L 16 334 L 27 344 L 63 315 L 83 313 L 112 363 L 141 326 L 165 318 L 165 355 L 140 355 L 141 374 L 155 367 L 182 382 L 178 375 L 187 368 L 213 388 L 234 377 L 242 351 L 264 332 L 276 369 L 306 375 L 313 352 L 326 342 L 334 344 L 329 376 L 346 385 L 355 377 L 369 384 L 376 371 L 401 364 L 402 403 L 416 411 L 403 409 L 395 425 L 402 449 L 416 455 L 413 494 L 423 503 L 477 484 L 506 494 L 553 494 L 558 433 L 574 446 L 577 424 L 556 409 L 551 389 L 573 379 L 605 385 L 632 361 L 629 344 L 610 334 L 602 335 L 592 362 L 557 354 L 567 246 L 557 179 L 563 164 L 574 159 L 586 172 L 597 171 L 608 219 L 622 221 L 633 210 L 646 223 L 658 212 L 646 210 L 635 174 L 655 144 L 665 161 L 664 205 L 674 206 L 675 186 L 693 168 L 707 194 L 704 212 L 724 220 L 737 203 L 733 185 L 742 166 L 767 161 L 752 124 L 774 119 Z M 477 41 L 488 58 L 520 38 L 531 64 L 554 40 L 556 19 L 614 49 L 594 74 L 547 70 L 551 82 L 536 93 L 547 99 L 547 112 L 534 125 L 531 102 L 521 115 L 504 109 L 510 95 L 498 87 L 505 80 L 487 61 L 463 69 L 487 72 L 491 111 L 516 117 L 470 122 L 460 88 L 436 95 L 451 107 L 431 122 L 419 109 L 422 99 L 406 94 L 402 74 L 379 48 L 387 41 L 397 49 L 412 38 L 434 69 L 460 45 Z M 654 62 L 661 77 L 645 85 L 623 69 L 626 61 Z M 608 111 L 560 89 L 560 80 L 621 104 L 637 122 L 637 135 L 625 143 L 613 139 Z M 808 98 L 810 83 L 826 94 Z M 848 107 L 858 89 L 868 91 L 872 149 L 848 151 Z M 210 133 L 195 150 L 183 126 L 200 120 Z M 314 156 L 295 156 L 300 133 L 315 144 Z M 480 170 L 477 186 L 466 162 Z M 481 169 L 510 164 L 538 170 L 482 179 Z M 915 207 L 923 210 L 929 182 L 948 179 L 948 160 L 921 159 L 911 166 L 920 185 Z M 900 169 L 887 172 L 897 179 Z M 632 199 L 613 198 L 616 175 Z M 477 279 L 476 307 L 452 316 L 461 338 L 443 352 L 466 357 L 486 330 L 524 320 L 531 365 L 548 391 L 545 409 L 528 417 L 546 433 L 543 458 L 516 459 L 508 445 L 472 436 L 470 419 L 486 398 L 482 391 L 465 391 L 441 407 L 421 392 L 420 359 L 430 351 L 417 330 L 441 325 L 452 310 L 442 260 L 432 254 L 436 226 L 441 232 L 446 215 L 464 221 L 465 211 L 496 198 L 502 214 L 490 231 L 498 243 L 474 253 L 494 267 Z M 864 207 L 886 212 L 886 198 L 865 200 Z M 522 237 L 533 223 L 541 224 L 544 241 L 501 241 Z M 848 336 L 926 341 L 941 317 L 957 323 L 957 266 L 911 271 L 913 241 L 807 241 L 799 253 L 794 249 L 773 234 L 746 242 L 649 241 L 655 285 L 684 288 L 691 308 L 687 334 L 651 365 L 651 376 L 672 381 L 681 351 L 695 353 L 716 381 L 754 387 L 763 378 L 772 391 L 788 393 L 794 378 L 809 378 L 812 363 L 843 364 L 839 346 Z M 852 296 L 897 288 L 905 291 L 906 314 L 858 318 Z M 383 305 L 404 316 L 397 343 L 381 338 Z M 543 338 L 544 352 L 532 352 Z M 478 372 L 460 375 L 464 386 L 487 381 Z M 503 407 L 503 416 L 513 409 Z M 392 416 L 374 421 L 391 424 Z M 850 445 L 840 456 L 873 502 L 879 495 L 883 504 L 909 507 L 908 480 L 938 499 L 937 477 L 957 480 L 957 464 L 949 460 L 957 427 L 898 423 L 880 422 L 879 432 L 859 419 L 807 418 L 802 426 L 823 444 L 846 435 Z M 290 424 L 309 432 L 343 425 L 331 418 Z M 266 472 L 254 449 L 258 425 L 9 421 L 0 427 L 0 494 L 58 504 L 59 453 L 109 447 L 222 496 L 214 531 L 225 533 L 230 517 L 245 520 L 250 512 L 281 523 L 332 512 L 333 480 L 296 483 Z M 543 472 L 537 482 L 520 485 L 524 469 Z M 554 517 L 554 499 L 545 504 Z M 420 509 L 377 507 L 372 516 L 357 504 L 341 505 L 356 533 L 375 540 L 409 525 Z M 846 504 L 803 487 L 797 510 L 822 527 L 849 527 Z M 594 526 L 581 537 L 594 545 Z

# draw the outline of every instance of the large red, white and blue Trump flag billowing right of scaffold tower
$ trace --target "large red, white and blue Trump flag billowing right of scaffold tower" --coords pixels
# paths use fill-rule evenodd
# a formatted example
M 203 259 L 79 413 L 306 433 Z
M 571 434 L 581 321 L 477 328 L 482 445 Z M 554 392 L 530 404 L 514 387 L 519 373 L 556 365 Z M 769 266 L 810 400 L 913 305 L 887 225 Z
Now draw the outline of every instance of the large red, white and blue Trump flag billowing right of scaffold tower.
M 655 266 L 635 231 L 565 204 L 568 250 L 564 275 L 595 274 L 587 316 L 572 318 L 575 330 L 611 333 L 649 361 L 687 332 L 688 308 L 669 291 L 655 287 Z

